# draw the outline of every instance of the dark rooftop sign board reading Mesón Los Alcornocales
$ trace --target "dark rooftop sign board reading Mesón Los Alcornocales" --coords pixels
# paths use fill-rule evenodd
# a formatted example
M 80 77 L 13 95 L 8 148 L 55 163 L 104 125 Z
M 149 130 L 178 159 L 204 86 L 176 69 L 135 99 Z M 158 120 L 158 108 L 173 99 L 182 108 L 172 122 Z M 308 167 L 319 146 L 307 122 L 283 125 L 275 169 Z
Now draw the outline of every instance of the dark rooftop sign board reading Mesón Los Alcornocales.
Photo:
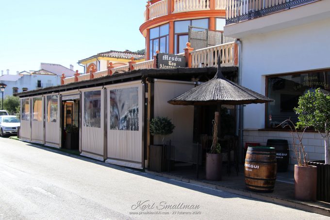
M 186 67 L 185 56 L 181 56 L 181 55 L 158 53 L 156 57 L 156 62 L 157 62 L 157 68 L 161 68 L 161 69 Z

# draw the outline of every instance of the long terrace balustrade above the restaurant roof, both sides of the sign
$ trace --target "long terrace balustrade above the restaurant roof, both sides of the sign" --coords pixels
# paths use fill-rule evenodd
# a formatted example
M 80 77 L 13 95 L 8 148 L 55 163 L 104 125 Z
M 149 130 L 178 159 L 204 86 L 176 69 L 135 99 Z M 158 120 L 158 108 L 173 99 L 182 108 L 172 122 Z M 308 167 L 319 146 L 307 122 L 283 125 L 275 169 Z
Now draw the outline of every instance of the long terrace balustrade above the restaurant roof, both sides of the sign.
M 192 49 L 191 49 L 192 50 Z M 187 50 L 189 51 L 189 50 Z M 184 53 L 180 53 L 178 55 L 185 55 Z M 221 66 L 237 66 L 237 45 L 235 42 L 220 44 L 213 47 L 207 47 L 199 50 L 192 50 L 185 55 L 188 56 L 187 62 L 188 67 L 190 68 L 202 68 L 202 67 L 217 67 L 217 58 L 220 56 Z M 107 75 L 115 75 L 121 74 L 123 72 L 127 72 L 129 70 L 137 70 L 137 69 L 151 69 L 154 67 L 154 60 L 148 60 L 144 62 L 135 63 L 133 60 L 129 65 L 121 66 L 113 68 L 111 66 L 108 67 L 107 70 L 101 70 L 96 72 L 91 72 L 87 74 L 79 73 L 72 77 L 61 77 L 61 85 L 66 85 L 75 82 L 86 81 L 90 79 L 96 79 L 100 77 L 104 77 Z

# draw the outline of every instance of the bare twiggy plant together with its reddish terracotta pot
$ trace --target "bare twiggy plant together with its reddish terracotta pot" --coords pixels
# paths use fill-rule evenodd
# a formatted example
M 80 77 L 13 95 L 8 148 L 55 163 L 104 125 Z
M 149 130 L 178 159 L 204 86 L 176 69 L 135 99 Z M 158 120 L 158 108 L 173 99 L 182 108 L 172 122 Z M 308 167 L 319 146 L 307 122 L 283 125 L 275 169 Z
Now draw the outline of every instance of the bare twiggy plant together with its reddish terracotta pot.
M 290 119 L 283 121 L 281 125 L 290 128 L 293 150 L 297 160 L 294 171 L 295 198 L 303 201 L 316 201 L 317 168 L 308 165 L 308 155 L 302 144 L 302 138 L 307 127 L 299 134 L 297 127 Z

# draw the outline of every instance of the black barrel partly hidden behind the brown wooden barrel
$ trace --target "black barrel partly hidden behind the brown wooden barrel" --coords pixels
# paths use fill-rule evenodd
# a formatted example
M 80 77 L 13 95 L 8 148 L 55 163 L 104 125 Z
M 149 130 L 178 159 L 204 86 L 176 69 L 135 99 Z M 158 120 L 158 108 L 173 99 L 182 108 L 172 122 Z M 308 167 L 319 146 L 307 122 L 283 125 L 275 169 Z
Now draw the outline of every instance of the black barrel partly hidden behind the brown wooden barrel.
M 289 165 L 289 145 L 287 140 L 268 139 L 267 147 L 273 147 L 276 151 L 277 171 L 286 172 Z

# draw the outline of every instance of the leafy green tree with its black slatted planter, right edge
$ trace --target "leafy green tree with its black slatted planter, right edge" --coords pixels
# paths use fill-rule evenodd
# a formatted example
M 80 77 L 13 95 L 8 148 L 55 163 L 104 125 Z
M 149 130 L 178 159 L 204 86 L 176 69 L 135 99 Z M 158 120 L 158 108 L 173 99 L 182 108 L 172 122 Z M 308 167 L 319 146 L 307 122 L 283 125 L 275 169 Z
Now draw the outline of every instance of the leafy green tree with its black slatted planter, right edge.
M 299 97 L 298 107 L 295 108 L 298 114 L 297 127 L 313 127 L 324 140 L 325 164 L 310 162 L 317 166 L 317 200 L 330 201 L 330 95 L 322 93 L 318 88 L 315 92 L 308 91 Z M 320 161 L 318 161 L 320 162 Z M 328 180 L 328 181 L 326 181 Z

